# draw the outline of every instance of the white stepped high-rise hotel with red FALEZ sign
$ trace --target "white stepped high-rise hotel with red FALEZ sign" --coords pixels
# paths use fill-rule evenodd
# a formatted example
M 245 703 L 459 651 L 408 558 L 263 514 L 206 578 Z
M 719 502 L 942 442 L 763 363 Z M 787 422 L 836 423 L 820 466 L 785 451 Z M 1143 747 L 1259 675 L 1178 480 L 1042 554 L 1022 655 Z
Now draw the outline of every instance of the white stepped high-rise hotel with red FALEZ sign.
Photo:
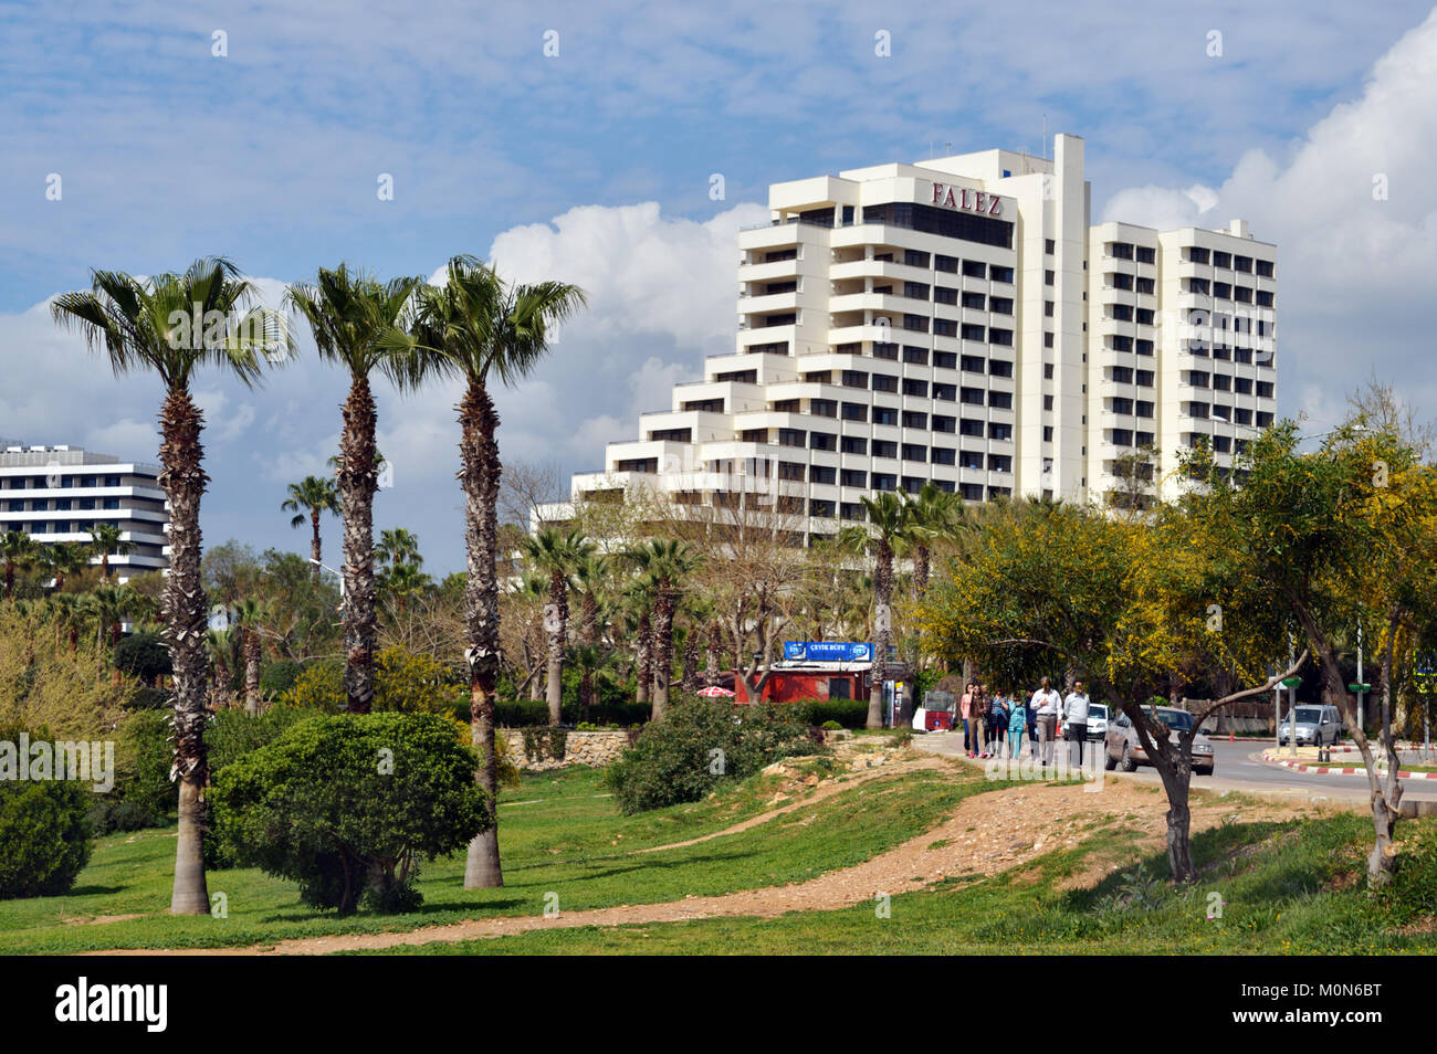
M 739 234 L 734 352 L 575 475 L 575 501 L 752 491 L 812 540 L 861 520 L 859 497 L 930 480 L 1101 503 L 1131 493 L 1119 458 L 1148 445 L 1151 493 L 1171 497 L 1181 448 L 1207 437 L 1230 467 L 1273 419 L 1276 248 L 1243 220 L 1094 225 L 1078 136 L 1052 159 L 773 184 L 769 210 Z

